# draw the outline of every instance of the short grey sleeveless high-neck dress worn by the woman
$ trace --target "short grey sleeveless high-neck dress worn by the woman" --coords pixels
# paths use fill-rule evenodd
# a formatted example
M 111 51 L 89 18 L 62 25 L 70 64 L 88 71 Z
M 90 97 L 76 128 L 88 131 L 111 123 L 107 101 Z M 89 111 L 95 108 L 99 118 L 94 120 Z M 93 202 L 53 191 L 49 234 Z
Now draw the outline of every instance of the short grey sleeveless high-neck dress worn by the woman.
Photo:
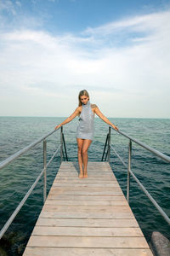
M 93 140 L 94 138 L 94 113 L 91 104 L 82 104 L 82 113 L 77 125 L 77 138 Z

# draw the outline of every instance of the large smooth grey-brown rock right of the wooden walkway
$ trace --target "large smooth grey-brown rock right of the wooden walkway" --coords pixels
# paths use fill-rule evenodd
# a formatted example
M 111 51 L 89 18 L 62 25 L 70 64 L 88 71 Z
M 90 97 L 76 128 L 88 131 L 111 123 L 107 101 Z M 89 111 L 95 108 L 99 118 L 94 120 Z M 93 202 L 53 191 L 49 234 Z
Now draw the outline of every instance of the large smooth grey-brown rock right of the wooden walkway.
M 170 241 L 160 232 L 152 233 L 151 246 L 156 256 L 170 256 Z

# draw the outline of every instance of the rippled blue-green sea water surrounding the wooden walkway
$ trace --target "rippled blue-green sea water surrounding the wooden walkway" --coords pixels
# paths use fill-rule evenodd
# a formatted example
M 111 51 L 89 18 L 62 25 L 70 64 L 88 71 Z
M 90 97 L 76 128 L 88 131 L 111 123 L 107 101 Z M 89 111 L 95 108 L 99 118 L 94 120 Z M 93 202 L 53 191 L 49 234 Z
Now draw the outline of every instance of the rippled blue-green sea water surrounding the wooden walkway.
M 65 118 L 45 117 L 0 117 L 0 161 L 14 154 L 29 143 L 37 140 Z M 77 118 L 64 126 L 65 143 L 69 160 L 77 161 L 76 127 Z M 119 129 L 142 143 L 156 148 L 161 153 L 170 156 L 170 119 L 110 119 Z M 95 136 L 94 141 L 88 149 L 88 160 L 101 160 L 108 125 L 101 119 L 94 119 Z M 111 131 L 111 144 L 116 148 L 118 154 L 127 163 L 128 140 L 116 131 Z M 59 146 L 59 131 L 48 138 L 48 159 Z M 42 171 L 42 143 L 22 155 L 9 166 L 1 170 L 0 183 L 0 228 L 14 212 L 31 184 Z M 115 173 L 123 193 L 126 195 L 127 169 L 122 166 L 120 160 L 111 151 L 111 168 Z M 59 155 L 48 167 L 48 190 L 53 183 L 54 177 L 59 169 Z M 139 177 L 141 183 L 149 190 L 150 194 L 160 204 L 162 209 L 170 216 L 170 165 L 160 160 L 154 154 L 140 148 L 133 143 L 132 171 Z M 42 209 L 42 183 L 37 184 L 33 193 L 13 224 L 8 228 L 3 239 L 0 241 L 1 255 L 22 255 L 26 243 L 31 236 L 34 224 L 36 224 Z M 130 206 L 137 218 L 144 236 L 150 241 L 154 230 L 160 231 L 170 239 L 169 225 L 161 217 L 159 212 L 150 203 L 144 192 L 139 189 L 137 183 L 131 178 Z M 4 253 L 5 252 L 5 253 Z M 4 254 L 3 254 L 4 253 Z

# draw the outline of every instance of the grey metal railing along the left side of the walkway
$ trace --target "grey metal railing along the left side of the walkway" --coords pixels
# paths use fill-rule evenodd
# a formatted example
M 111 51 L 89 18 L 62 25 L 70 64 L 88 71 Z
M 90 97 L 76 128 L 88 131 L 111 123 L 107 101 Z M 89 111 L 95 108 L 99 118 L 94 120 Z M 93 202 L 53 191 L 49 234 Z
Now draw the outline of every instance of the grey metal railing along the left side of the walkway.
M 59 147 L 57 148 L 57 150 L 54 152 L 54 154 L 52 155 L 50 160 L 48 160 L 48 163 L 47 163 L 47 138 L 59 129 L 60 129 Z M 20 212 L 21 207 L 23 207 L 23 205 L 25 204 L 29 195 L 31 195 L 32 190 L 36 187 L 38 181 L 42 177 L 42 174 L 43 174 L 43 203 L 45 203 L 46 198 L 47 198 L 47 167 L 52 162 L 52 160 L 54 160 L 54 156 L 59 152 L 59 149 L 60 149 L 60 163 L 63 161 L 63 158 L 68 160 L 67 153 L 66 153 L 66 147 L 65 147 L 65 137 L 64 137 L 64 133 L 63 133 L 63 126 L 61 126 L 59 129 L 49 132 L 46 136 L 41 137 L 37 141 L 28 145 L 26 148 L 21 149 L 20 151 L 9 156 L 6 160 L 3 160 L 0 163 L 0 170 L 1 170 L 5 166 L 8 166 L 8 164 L 13 162 L 14 160 L 18 159 L 20 157 L 20 155 L 25 154 L 31 148 L 34 148 L 37 144 L 43 142 L 43 169 L 42 169 L 42 172 L 38 175 L 35 182 L 31 185 L 31 188 L 27 191 L 27 193 L 24 196 L 24 198 L 22 199 L 22 201 L 20 201 L 20 204 L 18 205 L 18 207 L 16 207 L 13 214 L 10 216 L 10 218 L 8 218 L 8 221 L 6 222 L 6 224 L 4 224 L 3 229 L 0 231 L 0 239 L 2 238 L 2 236 L 6 232 L 6 230 L 8 230 L 9 225 L 13 222 L 13 220 L 16 217 L 16 215 L 18 214 L 18 212 Z M 64 155 L 64 151 L 63 151 L 63 146 L 65 149 L 65 155 Z

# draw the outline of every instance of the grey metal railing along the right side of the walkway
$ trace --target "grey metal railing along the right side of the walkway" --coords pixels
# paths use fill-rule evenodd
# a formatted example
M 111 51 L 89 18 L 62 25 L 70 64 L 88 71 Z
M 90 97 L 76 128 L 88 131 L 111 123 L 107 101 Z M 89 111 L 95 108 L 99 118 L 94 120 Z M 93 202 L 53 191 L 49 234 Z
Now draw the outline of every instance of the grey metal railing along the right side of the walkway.
M 108 132 L 106 140 L 105 140 L 105 148 L 104 148 L 104 152 L 103 152 L 101 160 L 103 161 L 104 160 L 104 156 L 105 156 L 105 160 L 107 159 L 108 161 L 110 161 L 111 149 L 112 149 L 115 152 L 116 156 L 119 158 L 119 160 L 121 160 L 123 166 L 125 166 L 127 168 L 127 202 L 129 202 L 130 175 L 131 175 L 133 177 L 133 179 L 139 184 L 139 187 L 144 191 L 145 195 L 147 195 L 147 197 L 150 199 L 150 201 L 156 207 L 156 209 L 161 213 L 161 216 L 167 221 L 168 224 L 170 224 L 170 218 L 168 218 L 167 214 L 161 209 L 161 207 L 157 204 L 155 199 L 150 195 L 148 190 L 144 188 L 144 185 L 142 183 L 140 183 L 138 177 L 136 177 L 134 175 L 134 173 L 132 172 L 132 170 L 131 170 L 132 142 L 138 144 L 142 148 L 147 149 L 151 153 L 156 154 L 156 156 L 158 156 L 162 160 L 167 161 L 168 163 L 170 163 L 170 157 L 167 156 L 166 154 L 162 154 L 158 150 L 156 150 L 154 148 L 151 148 L 150 146 L 148 146 L 148 145 L 146 145 L 144 143 L 139 142 L 138 140 L 134 139 L 133 137 L 128 136 L 126 133 L 124 133 L 122 131 L 117 131 L 123 137 L 127 137 L 129 139 L 129 144 L 128 144 L 128 164 L 126 164 L 122 160 L 122 157 L 116 152 L 116 149 L 111 146 L 111 128 L 112 127 L 110 126 L 109 127 L 109 132 Z M 107 145 L 107 151 L 106 151 L 106 145 Z M 106 151 L 106 153 L 105 153 L 105 151 Z

